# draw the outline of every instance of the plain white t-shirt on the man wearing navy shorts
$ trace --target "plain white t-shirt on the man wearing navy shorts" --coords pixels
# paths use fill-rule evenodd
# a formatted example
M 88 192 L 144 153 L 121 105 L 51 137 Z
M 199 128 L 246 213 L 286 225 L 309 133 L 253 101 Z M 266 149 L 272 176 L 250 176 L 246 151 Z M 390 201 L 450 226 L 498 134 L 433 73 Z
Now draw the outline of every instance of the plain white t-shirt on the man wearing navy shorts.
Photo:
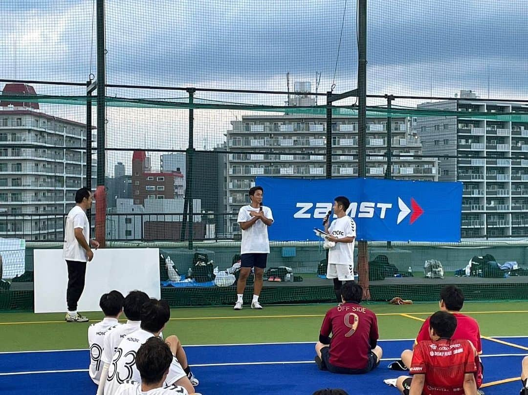
M 246 222 L 253 219 L 249 215 L 249 211 L 259 211 L 260 208 L 254 208 L 250 205 L 243 206 L 238 211 L 237 222 Z M 268 219 L 273 220 L 273 214 L 271 209 L 266 206 L 262 206 L 264 216 Z M 269 254 L 269 238 L 268 238 L 268 225 L 263 223 L 260 219 L 256 223 L 251 225 L 248 229 L 242 229 L 242 243 L 240 244 L 240 254 Z

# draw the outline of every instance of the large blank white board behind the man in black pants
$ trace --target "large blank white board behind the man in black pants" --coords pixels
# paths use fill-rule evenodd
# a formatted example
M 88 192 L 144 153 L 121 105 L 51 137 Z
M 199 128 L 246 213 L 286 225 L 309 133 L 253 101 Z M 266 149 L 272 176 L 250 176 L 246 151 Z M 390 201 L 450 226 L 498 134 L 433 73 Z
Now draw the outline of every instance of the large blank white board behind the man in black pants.
M 62 249 L 35 249 L 34 271 L 35 313 L 65 312 L 68 269 L 62 259 Z M 159 299 L 159 286 L 158 248 L 93 250 L 78 310 L 100 311 L 101 295 L 112 290 L 124 296 L 139 290 Z

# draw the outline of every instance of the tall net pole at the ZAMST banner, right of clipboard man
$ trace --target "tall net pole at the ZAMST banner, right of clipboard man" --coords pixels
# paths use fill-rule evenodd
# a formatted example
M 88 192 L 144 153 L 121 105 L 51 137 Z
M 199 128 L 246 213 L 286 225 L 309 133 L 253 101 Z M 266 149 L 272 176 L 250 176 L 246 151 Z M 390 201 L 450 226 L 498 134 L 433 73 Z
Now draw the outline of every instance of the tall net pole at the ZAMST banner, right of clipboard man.
M 366 177 L 366 0 L 358 0 L 358 75 L 357 75 L 357 98 L 358 98 L 358 169 L 357 176 Z M 363 298 L 370 300 L 369 290 L 369 251 L 368 243 L 361 240 L 357 243 L 358 274 L 359 282 L 363 288 Z

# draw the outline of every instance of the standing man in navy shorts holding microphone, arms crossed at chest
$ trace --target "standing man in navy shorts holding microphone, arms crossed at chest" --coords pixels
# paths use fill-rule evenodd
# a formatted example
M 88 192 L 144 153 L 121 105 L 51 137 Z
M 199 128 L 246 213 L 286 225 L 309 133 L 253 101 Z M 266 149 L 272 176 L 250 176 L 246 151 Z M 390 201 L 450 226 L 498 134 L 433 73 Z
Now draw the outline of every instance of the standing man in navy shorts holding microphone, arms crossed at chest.
M 242 228 L 240 245 L 240 276 L 237 282 L 237 303 L 234 310 L 242 310 L 242 298 L 246 289 L 251 268 L 254 267 L 253 301 L 251 309 L 262 309 L 259 295 L 262 290 L 262 275 L 266 268 L 269 254 L 268 226 L 273 223 L 271 209 L 262 206 L 264 189 L 256 186 L 249 189 L 251 204 L 243 206 L 238 212 L 238 224 Z

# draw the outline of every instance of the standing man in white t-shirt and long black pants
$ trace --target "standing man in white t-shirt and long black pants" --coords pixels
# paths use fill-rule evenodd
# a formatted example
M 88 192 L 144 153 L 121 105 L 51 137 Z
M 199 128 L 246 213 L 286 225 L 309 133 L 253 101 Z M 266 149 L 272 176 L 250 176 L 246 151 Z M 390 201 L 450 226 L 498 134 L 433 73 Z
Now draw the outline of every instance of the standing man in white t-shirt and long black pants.
M 86 322 L 87 317 L 77 312 L 77 302 L 84 290 L 86 263 L 93 258 L 90 244 L 99 247 L 96 240 L 90 240 L 90 224 L 86 210 L 92 206 L 92 193 L 88 188 L 81 188 L 75 194 L 76 205 L 68 213 L 64 226 L 64 247 L 62 257 L 68 265 L 68 290 L 66 301 L 68 312 L 66 322 Z

